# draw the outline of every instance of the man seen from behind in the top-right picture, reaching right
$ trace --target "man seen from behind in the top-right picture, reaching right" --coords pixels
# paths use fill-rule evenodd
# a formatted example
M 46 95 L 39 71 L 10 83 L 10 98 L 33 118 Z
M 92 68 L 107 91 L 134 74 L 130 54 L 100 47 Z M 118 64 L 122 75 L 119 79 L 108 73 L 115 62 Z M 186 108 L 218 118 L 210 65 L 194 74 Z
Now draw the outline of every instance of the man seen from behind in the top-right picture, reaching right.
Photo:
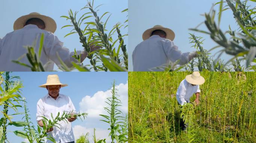
M 138 44 L 132 53 L 133 71 L 161 71 L 155 67 L 176 60 L 180 60 L 181 65 L 186 64 L 196 56 L 196 52 L 179 51 L 173 43 L 174 37 L 171 29 L 161 25 L 147 29 L 142 35 L 144 41 Z

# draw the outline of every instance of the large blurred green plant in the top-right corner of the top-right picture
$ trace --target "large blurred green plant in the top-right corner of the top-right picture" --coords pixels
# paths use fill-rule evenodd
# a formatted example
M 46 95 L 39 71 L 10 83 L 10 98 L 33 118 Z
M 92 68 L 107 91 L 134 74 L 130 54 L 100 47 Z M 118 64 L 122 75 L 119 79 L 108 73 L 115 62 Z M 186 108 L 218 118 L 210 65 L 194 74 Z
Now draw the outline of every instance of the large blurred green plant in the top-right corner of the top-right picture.
M 250 0 L 250 2 L 252 4 L 255 4 L 256 1 Z M 246 60 L 246 67 L 252 66 L 251 62 L 256 57 L 256 8 L 252 5 L 247 5 L 248 3 L 249 0 L 221 0 L 220 2 L 215 4 L 219 5 L 217 22 L 214 20 L 214 18 L 216 17 L 216 10 L 214 10 L 213 8 L 210 10 L 209 13 L 205 13 L 204 15 L 204 24 L 207 27 L 208 31 L 203 31 L 198 28 L 191 29 L 193 31 L 210 35 L 211 39 L 218 44 L 218 46 L 212 49 L 222 47 L 222 50 L 220 50 L 220 55 L 223 52 L 229 55 L 234 55 L 234 57 L 228 62 L 240 57 Z M 231 13 L 233 14 L 235 21 L 238 25 L 238 31 L 233 31 L 230 27 L 229 31 L 226 32 L 223 32 L 220 29 L 221 16 L 222 13 L 226 10 L 231 10 Z M 231 36 L 231 39 L 228 39 L 228 36 L 226 36 L 226 34 L 229 34 Z

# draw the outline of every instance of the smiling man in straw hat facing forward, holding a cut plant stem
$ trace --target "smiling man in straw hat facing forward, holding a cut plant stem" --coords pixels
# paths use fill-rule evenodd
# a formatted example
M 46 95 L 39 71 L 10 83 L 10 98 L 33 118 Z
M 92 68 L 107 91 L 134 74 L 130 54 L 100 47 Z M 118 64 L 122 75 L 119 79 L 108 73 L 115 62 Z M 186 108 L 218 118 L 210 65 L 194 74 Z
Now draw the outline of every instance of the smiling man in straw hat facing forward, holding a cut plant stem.
M 51 113 L 55 118 L 60 112 L 68 112 L 71 114 L 76 114 L 76 109 L 71 101 L 71 99 L 63 94 L 60 94 L 60 88 L 67 86 L 66 84 L 60 83 L 58 75 L 48 75 L 47 82 L 39 87 L 46 88 L 48 93 L 43 98 L 39 99 L 37 102 L 37 113 L 36 121 L 38 125 L 43 127 L 42 116 L 51 119 Z M 71 126 L 71 122 L 76 120 L 76 118 L 71 117 L 66 121 L 58 122 L 60 124 L 58 127 L 53 127 L 48 131 L 48 135 L 52 136 L 57 143 L 74 143 L 74 133 Z M 47 140 L 46 143 L 52 143 Z

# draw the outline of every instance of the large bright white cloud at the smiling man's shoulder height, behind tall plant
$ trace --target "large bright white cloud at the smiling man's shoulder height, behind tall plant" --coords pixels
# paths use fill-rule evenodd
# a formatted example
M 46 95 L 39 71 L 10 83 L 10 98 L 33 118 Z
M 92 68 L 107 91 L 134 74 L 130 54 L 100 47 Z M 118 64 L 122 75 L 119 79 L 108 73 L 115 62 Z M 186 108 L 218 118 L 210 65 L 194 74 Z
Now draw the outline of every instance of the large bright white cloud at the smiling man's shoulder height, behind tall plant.
M 124 113 L 128 113 L 128 81 L 126 84 L 120 83 L 116 86 L 118 99 L 121 100 L 122 106 L 119 109 Z M 93 96 L 86 95 L 79 102 L 80 111 L 88 113 L 88 118 L 102 118 L 99 114 L 106 114 L 104 107 L 108 107 L 105 101 L 111 97 L 111 90 L 98 91 Z

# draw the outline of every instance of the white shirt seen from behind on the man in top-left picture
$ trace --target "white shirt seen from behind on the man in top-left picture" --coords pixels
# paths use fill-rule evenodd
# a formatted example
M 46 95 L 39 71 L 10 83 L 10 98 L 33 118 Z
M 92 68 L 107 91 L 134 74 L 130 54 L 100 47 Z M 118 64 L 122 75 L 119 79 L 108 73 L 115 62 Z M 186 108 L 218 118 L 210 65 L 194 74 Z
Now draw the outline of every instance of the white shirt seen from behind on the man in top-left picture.
M 52 32 L 39 29 L 36 25 L 30 24 L 24 26 L 22 29 L 6 34 L 0 40 L 0 71 L 31 71 L 29 67 L 20 66 L 19 64 L 13 63 L 12 60 L 17 60 L 22 55 L 28 53 L 24 46 L 31 46 L 34 42 L 37 44 L 34 48 L 37 53 L 42 33 L 44 34 L 44 42 L 40 60 L 46 71 L 52 71 L 54 63 L 60 66 L 60 61 L 56 53 L 59 54 L 60 58 L 68 67 L 72 66 L 71 61 L 77 62 L 72 57 L 74 52 L 70 53 L 68 48 L 64 48 L 63 42 L 57 36 Z M 80 52 L 77 54 L 80 54 Z M 27 56 L 24 56 L 19 61 L 31 65 Z

